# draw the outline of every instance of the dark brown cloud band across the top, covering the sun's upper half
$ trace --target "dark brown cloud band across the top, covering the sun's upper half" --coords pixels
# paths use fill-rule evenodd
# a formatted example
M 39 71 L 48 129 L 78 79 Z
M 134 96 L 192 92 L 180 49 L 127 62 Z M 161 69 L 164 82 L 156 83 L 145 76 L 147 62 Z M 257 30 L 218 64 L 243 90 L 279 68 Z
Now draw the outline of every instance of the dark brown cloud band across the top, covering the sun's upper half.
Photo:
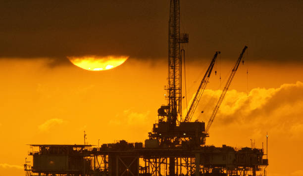
M 0 57 L 167 56 L 169 0 L 2 0 Z M 303 58 L 302 0 L 181 0 L 192 59 Z

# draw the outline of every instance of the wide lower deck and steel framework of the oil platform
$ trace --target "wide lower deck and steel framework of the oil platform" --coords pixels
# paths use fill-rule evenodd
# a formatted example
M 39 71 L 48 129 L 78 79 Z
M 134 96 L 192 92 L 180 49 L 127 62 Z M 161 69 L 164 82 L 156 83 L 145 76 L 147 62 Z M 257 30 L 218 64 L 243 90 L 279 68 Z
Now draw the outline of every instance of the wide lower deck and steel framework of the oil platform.
M 262 149 L 237 150 L 226 145 L 164 149 L 121 140 L 81 150 L 72 145 L 34 146 L 39 150 L 29 153 L 33 166 L 24 165 L 27 176 L 256 176 L 268 165 Z M 69 160 L 75 157 L 76 165 Z

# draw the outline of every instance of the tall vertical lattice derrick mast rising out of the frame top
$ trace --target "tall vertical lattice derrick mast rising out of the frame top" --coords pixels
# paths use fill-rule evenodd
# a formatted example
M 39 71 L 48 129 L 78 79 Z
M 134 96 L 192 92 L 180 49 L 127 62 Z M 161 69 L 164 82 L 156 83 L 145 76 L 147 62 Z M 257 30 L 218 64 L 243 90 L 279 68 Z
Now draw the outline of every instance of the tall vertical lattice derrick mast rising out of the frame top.
M 170 0 L 168 26 L 168 106 L 167 121 L 176 126 L 181 119 L 182 76 L 180 44 L 188 43 L 188 34 L 180 35 L 180 0 Z

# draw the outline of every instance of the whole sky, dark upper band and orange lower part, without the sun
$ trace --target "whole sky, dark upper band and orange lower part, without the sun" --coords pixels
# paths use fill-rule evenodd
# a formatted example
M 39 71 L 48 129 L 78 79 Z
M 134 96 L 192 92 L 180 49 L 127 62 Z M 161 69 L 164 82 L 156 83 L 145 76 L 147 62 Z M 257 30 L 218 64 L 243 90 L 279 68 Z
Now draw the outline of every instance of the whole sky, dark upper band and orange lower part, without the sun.
M 148 137 L 166 103 L 168 7 L 168 0 L 0 2 L 0 176 L 24 175 L 26 144 L 82 144 L 83 131 L 95 145 Z M 214 52 L 222 53 L 196 119 L 208 120 L 249 47 L 206 143 L 245 147 L 253 139 L 262 148 L 268 132 L 268 175 L 303 176 L 303 1 L 182 0 L 181 15 L 190 35 L 188 101 Z M 83 55 L 129 59 L 106 71 L 67 59 Z

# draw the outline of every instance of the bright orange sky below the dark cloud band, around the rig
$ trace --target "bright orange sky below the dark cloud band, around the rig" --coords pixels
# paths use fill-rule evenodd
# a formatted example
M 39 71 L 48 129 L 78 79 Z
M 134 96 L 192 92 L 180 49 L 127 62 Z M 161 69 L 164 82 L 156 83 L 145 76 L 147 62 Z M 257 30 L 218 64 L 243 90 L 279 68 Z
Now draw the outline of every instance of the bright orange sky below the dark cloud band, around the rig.
M 167 66 L 166 59 L 162 60 L 130 58 L 117 68 L 93 72 L 72 64 L 49 67 L 47 59 L 1 59 L 0 176 L 24 175 L 26 144 L 82 144 L 84 130 L 87 141 L 95 145 L 98 139 L 101 143 L 144 141 L 157 119 L 157 109 L 166 103 Z M 261 148 L 268 132 L 269 176 L 303 175 L 303 65 L 245 63 L 236 73 L 206 143 L 244 147 L 255 139 Z M 222 58 L 221 69 L 220 64 L 215 66 L 217 76 L 211 76 L 196 118 L 208 120 L 220 94 L 218 75 L 221 72 L 223 87 L 232 65 Z M 187 64 L 188 100 L 207 66 L 206 61 Z

